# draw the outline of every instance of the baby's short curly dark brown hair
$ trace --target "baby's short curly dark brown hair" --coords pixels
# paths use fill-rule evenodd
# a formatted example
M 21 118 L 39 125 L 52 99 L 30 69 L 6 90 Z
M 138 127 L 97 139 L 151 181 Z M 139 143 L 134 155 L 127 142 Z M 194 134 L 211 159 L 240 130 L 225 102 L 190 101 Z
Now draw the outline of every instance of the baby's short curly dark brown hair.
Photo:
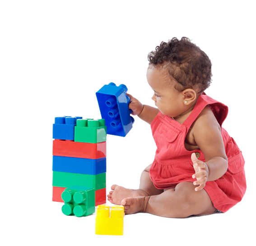
M 212 82 L 212 63 L 204 51 L 200 50 L 187 37 L 179 41 L 173 37 L 162 41 L 148 56 L 149 67 L 168 68 L 169 74 L 178 82 L 177 91 L 186 88 L 205 91 Z

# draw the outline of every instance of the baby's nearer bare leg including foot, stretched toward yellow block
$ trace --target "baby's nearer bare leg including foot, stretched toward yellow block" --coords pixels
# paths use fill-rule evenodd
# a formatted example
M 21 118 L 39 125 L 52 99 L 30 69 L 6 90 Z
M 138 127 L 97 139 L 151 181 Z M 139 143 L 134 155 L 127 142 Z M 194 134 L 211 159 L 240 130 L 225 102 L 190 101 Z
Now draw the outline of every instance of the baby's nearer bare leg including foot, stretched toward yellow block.
M 175 189 L 156 196 L 129 197 L 121 201 L 126 214 L 147 212 L 168 218 L 207 215 L 216 210 L 205 189 L 195 191 L 192 182 L 181 182 Z

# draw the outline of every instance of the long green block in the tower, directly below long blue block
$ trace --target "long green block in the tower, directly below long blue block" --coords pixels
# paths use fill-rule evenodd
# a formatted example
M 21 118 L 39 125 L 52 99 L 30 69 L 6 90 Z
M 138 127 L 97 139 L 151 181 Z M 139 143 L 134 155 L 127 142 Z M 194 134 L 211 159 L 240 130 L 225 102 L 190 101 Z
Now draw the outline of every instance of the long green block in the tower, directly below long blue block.
M 71 187 L 71 186 L 92 187 L 95 191 L 106 188 L 106 173 L 97 175 L 52 172 L 52 186 Z

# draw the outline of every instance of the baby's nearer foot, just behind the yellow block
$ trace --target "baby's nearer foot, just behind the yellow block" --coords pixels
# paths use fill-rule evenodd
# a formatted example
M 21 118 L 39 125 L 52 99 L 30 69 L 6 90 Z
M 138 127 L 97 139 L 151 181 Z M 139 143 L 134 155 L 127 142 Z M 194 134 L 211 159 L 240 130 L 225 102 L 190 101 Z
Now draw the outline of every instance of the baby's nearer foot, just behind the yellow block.
M 124 206 L 125 214 L 134 214 L 146 212 L 146 207 L 149 201 L 149 196 L 128 197 L 121 201 Z

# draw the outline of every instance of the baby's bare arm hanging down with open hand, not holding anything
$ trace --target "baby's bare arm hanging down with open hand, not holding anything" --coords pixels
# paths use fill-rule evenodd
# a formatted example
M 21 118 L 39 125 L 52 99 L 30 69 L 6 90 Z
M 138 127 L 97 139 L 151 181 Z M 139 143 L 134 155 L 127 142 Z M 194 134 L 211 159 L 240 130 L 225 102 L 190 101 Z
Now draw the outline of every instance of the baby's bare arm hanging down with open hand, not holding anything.
M 209 114 L 207 110 L 200 114 L 194 125 L 195 142 L 205 155 L 205 163 L 199 161 L 195 154 L 191 156 L 195 170 L 198 169 L 198 172 L 192 176 L 198 178 L 194 183 L 195 185 L 200 184 L 200 187 L 196 188 L 197 190 L 203 189 L 206 181 L 214 181 L 222 177 L 228 169 L 228 158 L 220 130 L 214 114 L 212 112 Z

